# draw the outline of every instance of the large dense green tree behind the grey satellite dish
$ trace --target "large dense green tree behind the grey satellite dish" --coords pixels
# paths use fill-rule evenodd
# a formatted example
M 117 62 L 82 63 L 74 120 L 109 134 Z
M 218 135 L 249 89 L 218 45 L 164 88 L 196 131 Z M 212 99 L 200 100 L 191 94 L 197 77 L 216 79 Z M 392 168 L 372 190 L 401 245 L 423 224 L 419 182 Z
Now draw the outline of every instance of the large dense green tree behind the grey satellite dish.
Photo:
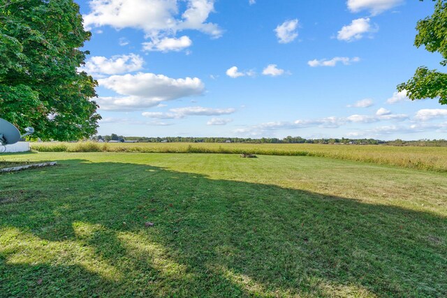
M 43 140 L 94 135 L 97 82 L 78 71 L 90 36 L 73 0 L 0 0 L 0 117 Z

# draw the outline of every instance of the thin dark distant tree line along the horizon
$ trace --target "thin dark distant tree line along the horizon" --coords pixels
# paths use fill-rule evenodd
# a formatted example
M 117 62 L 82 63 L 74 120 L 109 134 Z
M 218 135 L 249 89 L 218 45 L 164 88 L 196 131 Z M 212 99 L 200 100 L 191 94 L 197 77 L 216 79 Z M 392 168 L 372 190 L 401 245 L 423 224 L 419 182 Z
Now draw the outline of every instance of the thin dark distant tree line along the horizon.
M 188 142 L 188 143 L 252 143 L 252 144 L 388 144 L 393 146 L 447 146 L 447 140 L 415 140 L 415 141 L 403 141 L 400 139 L 393 141 L 383 141 L 375 139 L 350 139 L 344 138 L 330 138 L 330 139 L 305 139 L 303 137 L 291 137 L 290 135 L 279 139 L 277 137 L 124 137 L 112 133 L 111 135 L 95 135 L 92 140 L 103 142 L 118 141 L 138 141 L 149 143 L 161 143 L 161 142 Z

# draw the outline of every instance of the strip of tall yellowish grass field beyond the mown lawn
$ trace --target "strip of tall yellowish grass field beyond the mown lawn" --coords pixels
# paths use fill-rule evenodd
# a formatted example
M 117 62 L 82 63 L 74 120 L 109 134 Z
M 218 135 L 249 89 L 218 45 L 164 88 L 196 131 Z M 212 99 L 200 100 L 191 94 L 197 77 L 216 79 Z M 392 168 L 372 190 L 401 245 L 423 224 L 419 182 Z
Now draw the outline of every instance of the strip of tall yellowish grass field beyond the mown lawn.
M 41 152 L 218 153 L 278 156 L 318 156 L 419 170 L 447 172 L 447 147 L 392 147 L 328 144 L 216 144 L 216 143 L 31 143 Z

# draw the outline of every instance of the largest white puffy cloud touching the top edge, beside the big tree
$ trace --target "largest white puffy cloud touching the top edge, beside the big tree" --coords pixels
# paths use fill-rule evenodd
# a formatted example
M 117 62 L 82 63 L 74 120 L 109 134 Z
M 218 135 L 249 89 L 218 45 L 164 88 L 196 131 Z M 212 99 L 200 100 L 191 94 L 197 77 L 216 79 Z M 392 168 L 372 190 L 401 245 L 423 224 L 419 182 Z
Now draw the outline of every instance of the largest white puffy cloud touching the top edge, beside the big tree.
M 89 6 L 90 12 L 82 16 L 86 29 L 140 29 L 151 40 L 145 45 L 148 50 L 167 52 L 186 47 L 190 40 L 185 36 L 175 38 L 182 30 L 198 30 L 212 38 L 223 33 L 217 24 L 207 22 L 214 12 L 214 0 L 91 0 Z

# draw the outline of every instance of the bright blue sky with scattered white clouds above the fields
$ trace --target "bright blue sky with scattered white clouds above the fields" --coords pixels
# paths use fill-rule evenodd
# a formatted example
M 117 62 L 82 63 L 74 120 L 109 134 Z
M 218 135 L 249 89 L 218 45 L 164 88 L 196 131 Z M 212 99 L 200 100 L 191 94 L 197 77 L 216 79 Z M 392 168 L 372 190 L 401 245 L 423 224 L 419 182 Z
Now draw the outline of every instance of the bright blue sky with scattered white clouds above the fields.
M 76 0 L 92 38 L 98 133 L 446 138 L 447 108 L 397 84 L 432 1 Z

